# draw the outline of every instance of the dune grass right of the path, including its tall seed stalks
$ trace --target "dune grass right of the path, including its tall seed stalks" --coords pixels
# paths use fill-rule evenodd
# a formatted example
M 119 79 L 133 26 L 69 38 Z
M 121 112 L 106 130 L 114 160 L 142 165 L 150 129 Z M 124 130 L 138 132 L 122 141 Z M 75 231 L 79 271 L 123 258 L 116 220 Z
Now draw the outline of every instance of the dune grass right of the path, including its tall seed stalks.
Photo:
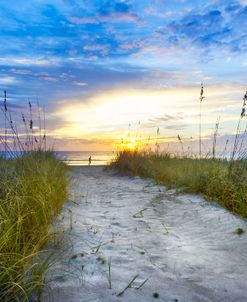
M 128 173 L 146 178 L 153 178 L 157 183 L 168 188 L 179 188 L 185 192 L 203 194 L 210 200 L 217 201 L 220 205 L 234 214 L 247 218 L 247 148 L 245 135 L 247 127 L 242 131 L 242 123 L 246 117 L 247 92 L 243 96 L 243 103 L 238 117 L 233 148 L 230 160 L 216 157 L 216 144 L 219 131 L 220 117 L 217 118 L 213 135 L 213 148 L 210 154 L 202 155 L 201 117 L 202 101 L 205 99 L 204 86 L 200 89 L 199 110 L 199 154 L 186 155 L 183 141 L 178 135 L 182 153 L 171 155 L 159 153 L 158 133 L 156 151 L 123 150 L 110 164 L 110 168 L 120 173 Z M 227 139 L 226 146 L 229 140 Z M 138 147 L 138 146 L 137 146 Z

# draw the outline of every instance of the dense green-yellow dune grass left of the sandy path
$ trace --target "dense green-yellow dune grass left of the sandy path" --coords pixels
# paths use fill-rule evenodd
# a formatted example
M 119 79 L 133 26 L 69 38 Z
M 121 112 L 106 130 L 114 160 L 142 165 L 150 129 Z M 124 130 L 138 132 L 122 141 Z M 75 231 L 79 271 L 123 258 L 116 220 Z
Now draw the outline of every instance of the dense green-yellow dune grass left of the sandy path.
M 67 195 L 67 167 L 53 152 L 0 158 L 0 301 L 40 293 L 47 257 L 40 252 Z

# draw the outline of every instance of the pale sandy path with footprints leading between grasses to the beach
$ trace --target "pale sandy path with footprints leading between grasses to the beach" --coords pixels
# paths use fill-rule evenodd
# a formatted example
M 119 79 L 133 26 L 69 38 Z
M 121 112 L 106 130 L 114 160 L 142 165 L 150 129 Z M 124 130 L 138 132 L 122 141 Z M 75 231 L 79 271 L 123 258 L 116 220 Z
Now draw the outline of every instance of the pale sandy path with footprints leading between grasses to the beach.
M 58 221 L 66 234 L 49 275 L 53 301 L 247 301 L 247 234 L 235 233 L 245 221 L 151 180 L 100 167 L 72 176 L 76 203 Z

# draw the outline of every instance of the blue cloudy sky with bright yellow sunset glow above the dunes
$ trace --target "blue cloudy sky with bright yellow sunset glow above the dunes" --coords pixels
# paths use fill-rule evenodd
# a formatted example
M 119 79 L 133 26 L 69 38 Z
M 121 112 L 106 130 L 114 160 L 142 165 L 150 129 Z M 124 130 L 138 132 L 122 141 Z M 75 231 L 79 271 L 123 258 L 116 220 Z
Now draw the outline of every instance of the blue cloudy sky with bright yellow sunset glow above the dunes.
M 196 140 L 201 83 L 203 139 L 236 131 L 246 0 L 1 0 L 0 28 L 0 93 L 17 119 L 38 99 L 58 150 Z

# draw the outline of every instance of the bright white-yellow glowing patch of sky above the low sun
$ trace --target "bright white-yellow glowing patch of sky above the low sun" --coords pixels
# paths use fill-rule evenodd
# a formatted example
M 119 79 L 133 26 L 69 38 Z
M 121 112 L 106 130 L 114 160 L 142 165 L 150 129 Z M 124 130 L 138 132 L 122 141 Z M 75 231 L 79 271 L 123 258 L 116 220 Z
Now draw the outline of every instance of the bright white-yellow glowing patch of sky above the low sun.
M 226 126 L 237 118 L 232 114 L 237 99 L 234 93 L 241 93 L 241 89 L 239 85 L 228 85 L 221 88 L 209 86 L 205 90 L 202 124 L 204 135 L 208 136 L 218 115 Z M 63 140 L 77 140 L 78 144 L 95 142 L 99 149 L 105 148 L 102 145 L 118 149 L 119 142 L 125 137 L 125 148 L 131 150 L 147 144 L 149 136 L 155 140 L 158 127 L 164 141 L 176 141 L 178 134 L 184 138 L 195 138 L 198 94 L 197 86 L 145 91 L 117 89 L 86 99 L 61 100 L 50 118 L 63 123 L 51 135 Z

